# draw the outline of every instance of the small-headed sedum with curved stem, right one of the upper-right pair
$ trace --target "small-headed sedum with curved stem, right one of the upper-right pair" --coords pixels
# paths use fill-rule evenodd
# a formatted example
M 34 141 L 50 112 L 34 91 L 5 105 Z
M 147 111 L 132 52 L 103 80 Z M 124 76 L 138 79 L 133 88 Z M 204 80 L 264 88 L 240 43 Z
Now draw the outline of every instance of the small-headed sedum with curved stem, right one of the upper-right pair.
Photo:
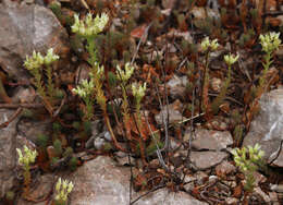
M 227 77 L 224 82 L 224 85 L 221 87 L 220 94 L 217 96 L 217 98 L 212 102 L 211 108 L 212 108 L 213 113 L 218 112 L 219 106 L 222 104 L 222 101 L 224 100 L 224 98 L 226 96 L 227 87 L 229 87 L 230 82 L 231 82 L 231 73 L 232 73 L 231 67 L 237 60 L 238 60 L 238 55 L 234 56 L 234 55 L 230 53 L 230 55 L 224 56 L 224 61 L 227 64 Z

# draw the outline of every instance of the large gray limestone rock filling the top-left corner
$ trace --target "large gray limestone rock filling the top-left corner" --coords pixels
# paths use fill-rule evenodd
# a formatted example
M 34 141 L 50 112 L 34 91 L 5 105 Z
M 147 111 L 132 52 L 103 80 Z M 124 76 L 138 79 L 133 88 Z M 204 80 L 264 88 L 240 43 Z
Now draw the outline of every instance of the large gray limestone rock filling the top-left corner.
M 28 81 L 23 62 L 34 50 L 49 48 L 62 58 L 67 53 L 66 31 L 54 14 L 37 4 L 0 3 L 0 67 L 17 81 Z

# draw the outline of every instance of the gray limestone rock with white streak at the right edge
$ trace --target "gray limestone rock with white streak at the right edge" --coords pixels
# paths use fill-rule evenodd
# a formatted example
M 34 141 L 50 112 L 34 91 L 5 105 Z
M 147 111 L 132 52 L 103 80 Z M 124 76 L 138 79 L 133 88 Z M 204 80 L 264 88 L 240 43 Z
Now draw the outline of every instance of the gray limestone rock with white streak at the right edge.
M 263 94 L 259 104 L 260 112 L 251 122 L 250 131 L 245 136 L 243 146 L 254 146 L 258 143 L 269 162 L 276 157 L 283 141 L 283 88 Z M 273 165 L 283 167 L 282 147 Z

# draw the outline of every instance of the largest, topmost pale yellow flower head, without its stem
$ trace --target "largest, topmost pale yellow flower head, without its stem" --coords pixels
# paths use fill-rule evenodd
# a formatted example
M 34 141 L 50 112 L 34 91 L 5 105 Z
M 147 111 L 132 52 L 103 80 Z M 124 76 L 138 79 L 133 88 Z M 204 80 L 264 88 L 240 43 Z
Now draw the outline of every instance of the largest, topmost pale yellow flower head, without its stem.
M 106 13 L 102 13 L 101 16 L 97 15 L 95 19 L 91 13 L 88 13 L 84 21 L 79 20 L 77 14 L 74 17 L 75 23 L 72 26 L 72 32 L 85 37 L 95 36 L 102 32 L 109 21 Z

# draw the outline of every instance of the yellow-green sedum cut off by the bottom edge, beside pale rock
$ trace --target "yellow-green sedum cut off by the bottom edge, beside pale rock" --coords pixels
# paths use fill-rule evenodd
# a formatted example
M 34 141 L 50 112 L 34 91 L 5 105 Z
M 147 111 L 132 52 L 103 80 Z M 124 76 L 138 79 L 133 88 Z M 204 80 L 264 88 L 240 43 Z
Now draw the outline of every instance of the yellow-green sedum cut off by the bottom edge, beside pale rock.
M 59 178 L 56 184 L 56 205 L 66 205 L 67 204 L 67 195 L 72 192 L 74 184 L 72 181 L 62 180 Z

